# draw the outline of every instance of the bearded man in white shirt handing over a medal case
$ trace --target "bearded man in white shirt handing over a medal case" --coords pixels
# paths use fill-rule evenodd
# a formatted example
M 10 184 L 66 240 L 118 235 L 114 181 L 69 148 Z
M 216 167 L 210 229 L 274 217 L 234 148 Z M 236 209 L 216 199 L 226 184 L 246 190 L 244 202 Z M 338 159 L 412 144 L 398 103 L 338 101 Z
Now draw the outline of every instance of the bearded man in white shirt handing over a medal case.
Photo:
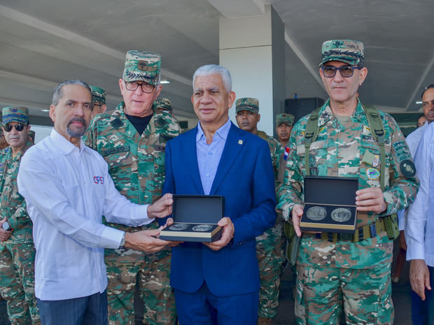
M 125 233 L 102 224 L 139 226 L 172 213 L 172 194 L 153 205 L 116 190 L 106 161 L 81 140 L 92 115 L 90 87 L 66 80 L 52 96 L 50 136 L 22 157 L 18 189 L 27 202 L 36 246 L 35 295 L 42 324 L 106 325 L 104 247 L 157 252 L 160 229 Z

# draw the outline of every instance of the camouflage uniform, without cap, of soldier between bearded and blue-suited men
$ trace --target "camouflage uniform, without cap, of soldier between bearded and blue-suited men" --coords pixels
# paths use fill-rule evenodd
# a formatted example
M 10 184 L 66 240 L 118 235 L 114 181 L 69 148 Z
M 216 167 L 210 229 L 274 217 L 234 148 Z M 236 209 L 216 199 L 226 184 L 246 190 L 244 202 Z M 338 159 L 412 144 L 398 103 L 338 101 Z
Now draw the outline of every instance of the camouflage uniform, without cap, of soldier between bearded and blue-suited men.
M 153 203 L 161 196 L 165 179 L 165 144 L 179 134 L 179 124 L 168 113 L 155 113 L 141 136 L 124 113 L 120 103 L 113 114 L 100 114 L 92 120 L 86 145 L 97 150 L 109 164 L 116 188 L 130 201 Z M 109 224 L 124 231 L 128 226 Z M 153 222 L 144 229 L 158 228 Z M 110 324 L 134 324 L 133 295 L 139 282 L 148 324 L 174 324 L 176 308 L 169 287 L 170 250 L 143 253 L 134 250 L 106 250 L 109 285 Z

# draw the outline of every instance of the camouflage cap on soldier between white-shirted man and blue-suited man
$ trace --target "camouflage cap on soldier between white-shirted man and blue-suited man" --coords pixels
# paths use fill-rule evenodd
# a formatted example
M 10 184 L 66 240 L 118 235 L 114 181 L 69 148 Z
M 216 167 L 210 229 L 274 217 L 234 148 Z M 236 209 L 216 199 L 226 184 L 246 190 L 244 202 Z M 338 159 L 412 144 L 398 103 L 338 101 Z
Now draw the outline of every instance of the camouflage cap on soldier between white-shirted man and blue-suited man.
M 155 52 L 128 51 L 123 80 L 144 81 L 155 86 L 160 75 L 161 55 Z

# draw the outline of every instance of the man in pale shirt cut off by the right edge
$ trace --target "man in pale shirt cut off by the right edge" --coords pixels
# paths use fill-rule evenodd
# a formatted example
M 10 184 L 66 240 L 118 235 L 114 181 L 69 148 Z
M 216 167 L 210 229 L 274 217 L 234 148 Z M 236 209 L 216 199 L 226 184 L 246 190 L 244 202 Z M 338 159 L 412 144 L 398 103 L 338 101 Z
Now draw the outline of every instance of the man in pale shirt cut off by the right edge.
M 426 87 L 422 101 L 423 112 L 430 123 L 434 119 L 434 85 Z M 428 116 L 427 111 L 430 113 Z M 431 289 L 434 281 L 434 123 L 424 129 L 414 156 L 420 187 L 414 203 L 409 206 L 405 225 L 407 261 L 411 260 L 410 284 L 422 300 L 417 302 L 412 297 L 414 325 L 434 325 L 434 294 Z

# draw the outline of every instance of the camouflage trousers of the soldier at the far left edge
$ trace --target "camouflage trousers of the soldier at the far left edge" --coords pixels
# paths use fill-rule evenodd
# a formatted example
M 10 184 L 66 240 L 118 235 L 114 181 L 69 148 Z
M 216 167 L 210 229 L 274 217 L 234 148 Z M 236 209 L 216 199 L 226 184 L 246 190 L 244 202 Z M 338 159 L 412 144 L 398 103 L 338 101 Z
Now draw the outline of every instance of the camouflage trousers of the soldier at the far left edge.
M 41 324 L 34 296 L 35 253 L 33 243 L 0 245 L 0 294 L 12 325 Z

